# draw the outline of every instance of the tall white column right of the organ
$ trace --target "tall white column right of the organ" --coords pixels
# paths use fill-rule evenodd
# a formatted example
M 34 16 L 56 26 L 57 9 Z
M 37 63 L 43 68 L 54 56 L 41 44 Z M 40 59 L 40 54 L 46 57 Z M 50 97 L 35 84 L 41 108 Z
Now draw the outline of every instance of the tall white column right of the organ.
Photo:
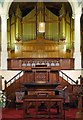
M 81 69 L 81 52 L 80 52 L 80 17 L 81 17 L 81 8 L 75 10 L 75 20 L 74 20 L 74 58 L 75 64 L 74 69 Z

